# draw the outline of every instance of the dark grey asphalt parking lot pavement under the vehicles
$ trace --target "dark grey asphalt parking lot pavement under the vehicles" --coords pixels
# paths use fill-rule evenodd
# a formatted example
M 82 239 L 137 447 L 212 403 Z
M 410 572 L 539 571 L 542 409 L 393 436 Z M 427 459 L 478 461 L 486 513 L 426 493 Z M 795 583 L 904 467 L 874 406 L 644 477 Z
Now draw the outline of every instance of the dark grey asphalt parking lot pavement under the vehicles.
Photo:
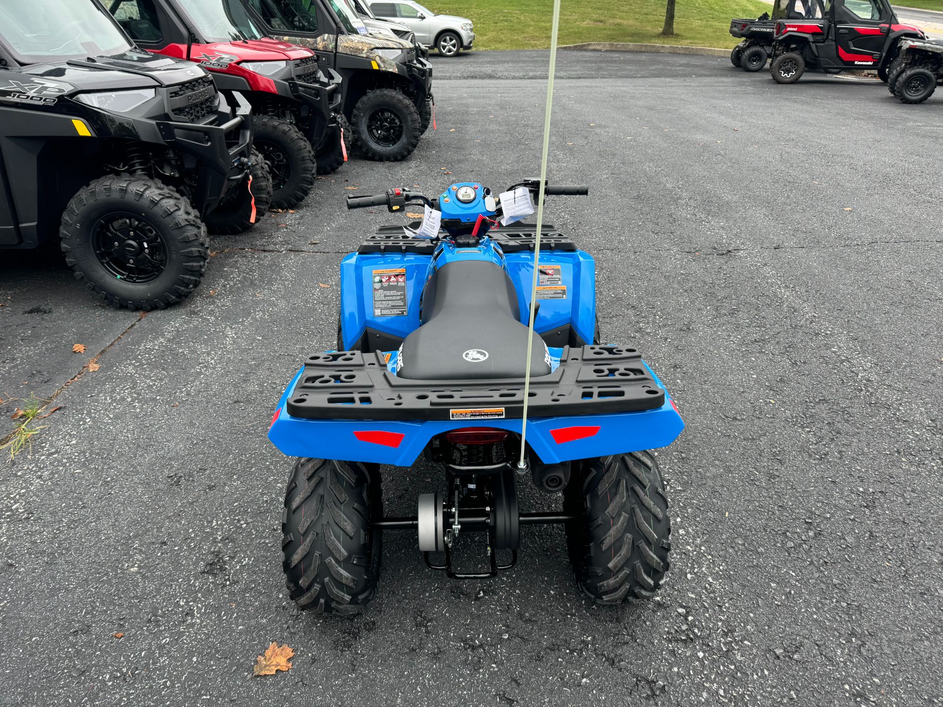
M 390 533 L 365 615 L 288 599 L 291 460 L 266 429 L 333 346 L 340 258 L 392 220 L 343 198 L 537 174 L 547 58 L 436 58 L 438 130 L 411 159 L 351 161 L 305 208 L 213 238 L 172 309 L 113 310 L 57 256 L 0 256 L 0 397 L 62 406 L 0 465 L 0 704 L 943 704 L 943 98 L 877 81 L 560 54 L 550 174 L 590 196 L 548 220 L 596 257 L 604 339 L 637 346 L 687 422 L 659 452 L 655 600 L 587 603 L 559 528 L 523 530 L 489 582 Z M 389 515 L 442 486 L 384 472 Z M 253 678 L 272 641 L 290 672 Z

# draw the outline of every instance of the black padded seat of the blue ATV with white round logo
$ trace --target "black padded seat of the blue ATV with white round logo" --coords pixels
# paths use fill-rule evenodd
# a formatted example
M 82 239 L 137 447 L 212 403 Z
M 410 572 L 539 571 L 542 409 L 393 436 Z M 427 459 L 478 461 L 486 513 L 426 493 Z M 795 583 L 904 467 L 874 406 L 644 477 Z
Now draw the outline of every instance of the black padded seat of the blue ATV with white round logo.
M 436 271 L 422 301 L 422 324 L 403 341 L 397 375 L 413 380 L 523 378 L 528 328 L 514 283 L 496 263 L 460 260 Z M 536 333 L 531 375 L 550 373 Z

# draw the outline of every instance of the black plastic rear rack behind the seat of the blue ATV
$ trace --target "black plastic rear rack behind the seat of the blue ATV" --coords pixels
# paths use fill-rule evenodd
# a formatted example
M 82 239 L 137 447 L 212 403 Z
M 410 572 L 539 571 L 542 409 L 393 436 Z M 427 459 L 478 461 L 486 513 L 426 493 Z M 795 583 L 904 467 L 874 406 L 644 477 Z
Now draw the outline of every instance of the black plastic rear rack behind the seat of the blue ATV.
M 420 381 L 398 378 L 380 352 L 309 356 L 287 412 L 306 419 L 521 419 L 523 378 Z M 563 348 L 560 365 L 531 378 L 528 417 L 653 410 L 665 391 L 635 349 Z

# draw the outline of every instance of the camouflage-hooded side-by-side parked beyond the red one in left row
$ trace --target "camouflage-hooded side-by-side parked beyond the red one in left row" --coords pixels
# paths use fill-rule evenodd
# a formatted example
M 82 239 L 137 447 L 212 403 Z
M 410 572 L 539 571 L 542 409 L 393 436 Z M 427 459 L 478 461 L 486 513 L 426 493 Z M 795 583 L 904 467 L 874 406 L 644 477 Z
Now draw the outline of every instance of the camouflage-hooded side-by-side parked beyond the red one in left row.
M 395 37 L 371 37 L 342 0 L 242 0 L 266 32 L 313 50 L 343 76 L 343 113 L 364 156 L 410 156 L 432 122 L 432 66 Z

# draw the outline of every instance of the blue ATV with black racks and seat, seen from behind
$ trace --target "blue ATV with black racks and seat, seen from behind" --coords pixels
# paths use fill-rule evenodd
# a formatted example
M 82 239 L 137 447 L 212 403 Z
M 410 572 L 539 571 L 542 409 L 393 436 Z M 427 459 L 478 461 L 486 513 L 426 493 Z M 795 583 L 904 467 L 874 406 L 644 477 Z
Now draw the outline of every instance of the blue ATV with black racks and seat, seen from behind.
M 533 204 L 541 186 L 587 193 L 527 180 L 498 196 L 468 182 L 435 200 L 408 189 L 348 197 L 348 208 L 427 207 L 439 222 L 381 227 L 344 257 L 338 350 L 309 356 L 278 403 L 269 439 L 300 457 L 282 522 L 299 607 L 360 611 L 376 593 L 385 530 L 417 533 L 429 567 L 467 579 L 513 567 L 521 526 L 563 523 L 592 600 L 649 598 L 661 584 L 670 518 L 646 450 L 669 445 L 684 422 L 636 349 L 600 342 L 593 259 L 553 226 L 538 250 L 535 226 L 498 222 L 507 193 Z M 445 492 L 420 495 L 415 517 L 384 517 L 380 465 L 410 467 L 420 454 L 445 469 Z M 528 476 L 563 494 L 561 510 L 521 512 Z M 476 571 L 459 571 L 469 533 L 487 534 L 487 551 Z

